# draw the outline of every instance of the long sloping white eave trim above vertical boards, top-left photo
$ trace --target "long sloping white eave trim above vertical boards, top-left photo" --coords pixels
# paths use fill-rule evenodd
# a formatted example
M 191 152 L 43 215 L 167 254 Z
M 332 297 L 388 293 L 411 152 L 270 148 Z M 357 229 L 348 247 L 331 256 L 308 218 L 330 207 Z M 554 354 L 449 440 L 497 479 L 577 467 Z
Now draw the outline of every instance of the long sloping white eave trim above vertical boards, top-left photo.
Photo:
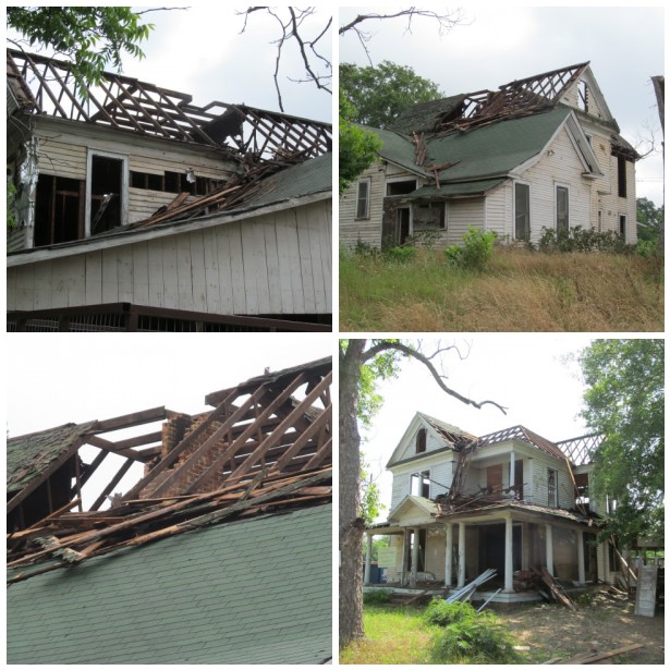
M 326 199 L 330 199 L 331 197 L 332 192 L 330 190 L 322 191 L 297 198 L 290 198 L 281 203 L 272 203 L 270 205 L 249 208 L 246 210 L 237 210 L 224 214 L 217 212 L 188 221 L 173 221 L 170 223 L 157 224 L 155 227 L 146 229 L 119 231 L 110 233 L 108 235 L 87 237 L 85 240 L 77 240 L 75 242 L 65 242 L 62 244 L 47 247 L 24 249 L 21 252 L 9 254 L 7 257 L 7 267 L 12 268 L 23 265 L 29 265 L 32 263 L 39 263 L 42 260 L 54 260 L 69 256 L 77 256 L 80 254 L 88 254 L 90 252 L 126 246 L 129 244 L 136 244 L 138 242 L 147 242 L 149 240 L 158 240 L 161 237 L 169 237 L 171 235 L 178 235 L 198 230 L 207 230 L 217 226 L 230 226 L 232 223 L 237 223 L 252 218 L 276 214 L 278 211 L 283 211 L 287 209 L 295 209 L 297 207 L 303 207 L 306 205 L 312 205 L 313 203 L 319 203 Z

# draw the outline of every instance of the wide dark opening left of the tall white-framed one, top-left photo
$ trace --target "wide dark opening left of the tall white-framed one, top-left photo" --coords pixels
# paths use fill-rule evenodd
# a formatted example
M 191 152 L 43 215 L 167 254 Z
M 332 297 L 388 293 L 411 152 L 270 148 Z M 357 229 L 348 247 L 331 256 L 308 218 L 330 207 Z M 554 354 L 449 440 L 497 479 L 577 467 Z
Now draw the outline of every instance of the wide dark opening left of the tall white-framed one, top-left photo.
M 39 175 L 35 196 L 35 246 L 84 236 L 85 188 L 84 180 Z

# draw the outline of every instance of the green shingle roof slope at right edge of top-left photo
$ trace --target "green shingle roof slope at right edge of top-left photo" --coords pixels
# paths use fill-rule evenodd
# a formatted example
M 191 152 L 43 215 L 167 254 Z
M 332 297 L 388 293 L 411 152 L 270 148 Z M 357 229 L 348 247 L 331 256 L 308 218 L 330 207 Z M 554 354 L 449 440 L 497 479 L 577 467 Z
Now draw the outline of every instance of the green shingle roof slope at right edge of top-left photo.
M 260 190 L 224 214 L 246 211 L 316 193 L 332 191 L 332 154 L 310 158 L 263 180 Z

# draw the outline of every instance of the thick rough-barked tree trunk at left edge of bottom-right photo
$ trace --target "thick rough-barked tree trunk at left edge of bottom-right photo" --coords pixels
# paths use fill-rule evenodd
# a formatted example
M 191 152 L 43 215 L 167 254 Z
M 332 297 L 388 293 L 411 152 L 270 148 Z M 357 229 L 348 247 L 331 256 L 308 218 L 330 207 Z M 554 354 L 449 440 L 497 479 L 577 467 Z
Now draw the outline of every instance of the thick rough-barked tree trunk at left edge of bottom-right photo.
M 363 533 L 358 378 L 365 340 L 340 354 L 340 648 L 363 637 Z

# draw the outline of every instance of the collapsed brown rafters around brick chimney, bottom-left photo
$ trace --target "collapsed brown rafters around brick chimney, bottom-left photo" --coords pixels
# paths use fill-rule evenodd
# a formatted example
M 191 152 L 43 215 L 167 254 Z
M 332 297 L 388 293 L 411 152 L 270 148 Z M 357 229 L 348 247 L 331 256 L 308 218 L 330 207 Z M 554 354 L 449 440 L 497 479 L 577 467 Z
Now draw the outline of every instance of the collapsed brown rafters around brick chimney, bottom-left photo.
M 54 557 L 78 562 L 241 514 L 329 502 L 331 380 L 327 357 L 211 393 L 206 402 L 215 409 L 195 416 L 158 407 L 11 438 L 11 565 Z M 115 442 L 100 437 L 161 417 L 168 421 L 159 433 Z M 84 444 L 99 449 L 89 463 L 80 453 Z M 40 456 L 31 470 L 36 453 L 52 458 Z M 84 511 L 82 488 L 109 453 L 123 456 L 123 465 Z M 125 495 L 114 492 L 137 461 L 144 476 Z M 108 499 L 111 507 L 100 511 Z

